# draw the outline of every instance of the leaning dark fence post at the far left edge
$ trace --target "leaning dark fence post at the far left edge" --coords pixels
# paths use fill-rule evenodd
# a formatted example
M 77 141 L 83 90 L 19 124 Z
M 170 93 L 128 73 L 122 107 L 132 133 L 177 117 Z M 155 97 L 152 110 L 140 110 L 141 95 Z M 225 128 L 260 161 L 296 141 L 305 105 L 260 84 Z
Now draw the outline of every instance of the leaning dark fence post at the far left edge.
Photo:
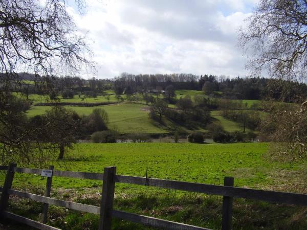
M 5 176 L 5 181 L 3 185 L 2 195 L 0 199 L 0 213 L 5 212 L 8 206 L 9 196 L 10 196 L 10 194 L 8 193 L 8 190 L 12 188 L 12 183 L 13 183 L 14 174 L 15 174 L 13 171 L 13 168 L 16 166 L 17 166 L 16 163 L 11 163 L 7 170 L 7 174 Z M 3 215 L 1 216 L 3 217 Z

